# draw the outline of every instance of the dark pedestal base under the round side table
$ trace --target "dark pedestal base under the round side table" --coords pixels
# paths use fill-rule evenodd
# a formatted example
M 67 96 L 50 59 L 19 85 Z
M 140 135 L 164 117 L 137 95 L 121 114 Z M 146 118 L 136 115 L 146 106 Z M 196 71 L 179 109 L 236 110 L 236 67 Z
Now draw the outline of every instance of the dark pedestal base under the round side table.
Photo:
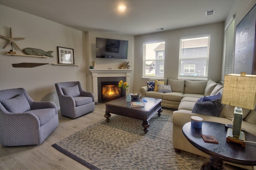
M 201 170 L 226 170 L 224 162 L 214 156 L 210 156 L 210 160 L 202 164 Z

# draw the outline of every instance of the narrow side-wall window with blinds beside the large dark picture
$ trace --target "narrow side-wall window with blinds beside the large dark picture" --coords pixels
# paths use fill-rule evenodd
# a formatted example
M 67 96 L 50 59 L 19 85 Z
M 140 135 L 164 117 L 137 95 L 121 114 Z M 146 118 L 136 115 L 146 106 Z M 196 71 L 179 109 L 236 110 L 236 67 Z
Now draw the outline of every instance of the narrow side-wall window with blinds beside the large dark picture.
M 224 75 L 228 75 L 232 73 L 232 64 L 233 64 L 233 44 L 234 44 L 234 34 L 235 34 L 235 20 L 232 17 L 231 23 L 225 29 L 226 39 L 225 39 L 225 57 L 224 57 Z

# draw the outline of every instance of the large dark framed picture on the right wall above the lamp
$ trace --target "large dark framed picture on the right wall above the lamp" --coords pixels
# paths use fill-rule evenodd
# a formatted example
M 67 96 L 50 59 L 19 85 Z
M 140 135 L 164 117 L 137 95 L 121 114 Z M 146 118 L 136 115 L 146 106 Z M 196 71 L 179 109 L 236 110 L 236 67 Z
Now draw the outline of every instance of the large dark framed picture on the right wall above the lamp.
M 236 26 L 234 73 L 256 75 L 256 5 Z

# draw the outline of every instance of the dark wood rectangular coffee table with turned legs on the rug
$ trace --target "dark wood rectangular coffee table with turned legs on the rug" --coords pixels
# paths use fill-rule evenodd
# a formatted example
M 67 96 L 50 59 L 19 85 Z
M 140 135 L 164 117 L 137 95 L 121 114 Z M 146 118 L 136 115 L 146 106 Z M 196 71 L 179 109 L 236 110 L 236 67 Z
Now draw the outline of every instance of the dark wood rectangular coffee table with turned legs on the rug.
M 146 100 L 147 102 L 143 100 Z M 149 131 L 148 128 L 150 125 L 149 119 L 152 118 L 152 116 L 155 115 L 156 112 L 158 112 L 158 116 L 161 115 L 162 99 L 140 97 L 138 99 L 132 99 L 131 101 L 143 102 L 144 107 L 141 107 L 141 108 L 131 107 L 130 102 L 126 102 L 126 97 L 124 96 L 122 98 L 118 98 L 116 100 L 105 103 L 106 111 L 105 111 L 104 117 L 106 118 L 107 122 L 109 122 L 110 120 L 109 119 L 111 116 L 110 113 L 142 120 L 143 121 L 142 126 L 144 127 L 143 131 L 147 133 Z

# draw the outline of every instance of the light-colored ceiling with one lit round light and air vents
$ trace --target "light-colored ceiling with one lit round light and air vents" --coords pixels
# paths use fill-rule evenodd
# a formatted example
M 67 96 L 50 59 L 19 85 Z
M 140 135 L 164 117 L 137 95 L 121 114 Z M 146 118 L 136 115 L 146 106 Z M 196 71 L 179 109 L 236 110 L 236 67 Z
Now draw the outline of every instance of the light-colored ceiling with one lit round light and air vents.
M 81 31 L 143 35 L 222 22 L 235 0 L 0 0 L 18 9 Z M 117 6 L 124 4 L 125 12 Z M 205 11 L 215 14 L 205 16 Z M 157 28 L 164 30 L 157 31 Z

